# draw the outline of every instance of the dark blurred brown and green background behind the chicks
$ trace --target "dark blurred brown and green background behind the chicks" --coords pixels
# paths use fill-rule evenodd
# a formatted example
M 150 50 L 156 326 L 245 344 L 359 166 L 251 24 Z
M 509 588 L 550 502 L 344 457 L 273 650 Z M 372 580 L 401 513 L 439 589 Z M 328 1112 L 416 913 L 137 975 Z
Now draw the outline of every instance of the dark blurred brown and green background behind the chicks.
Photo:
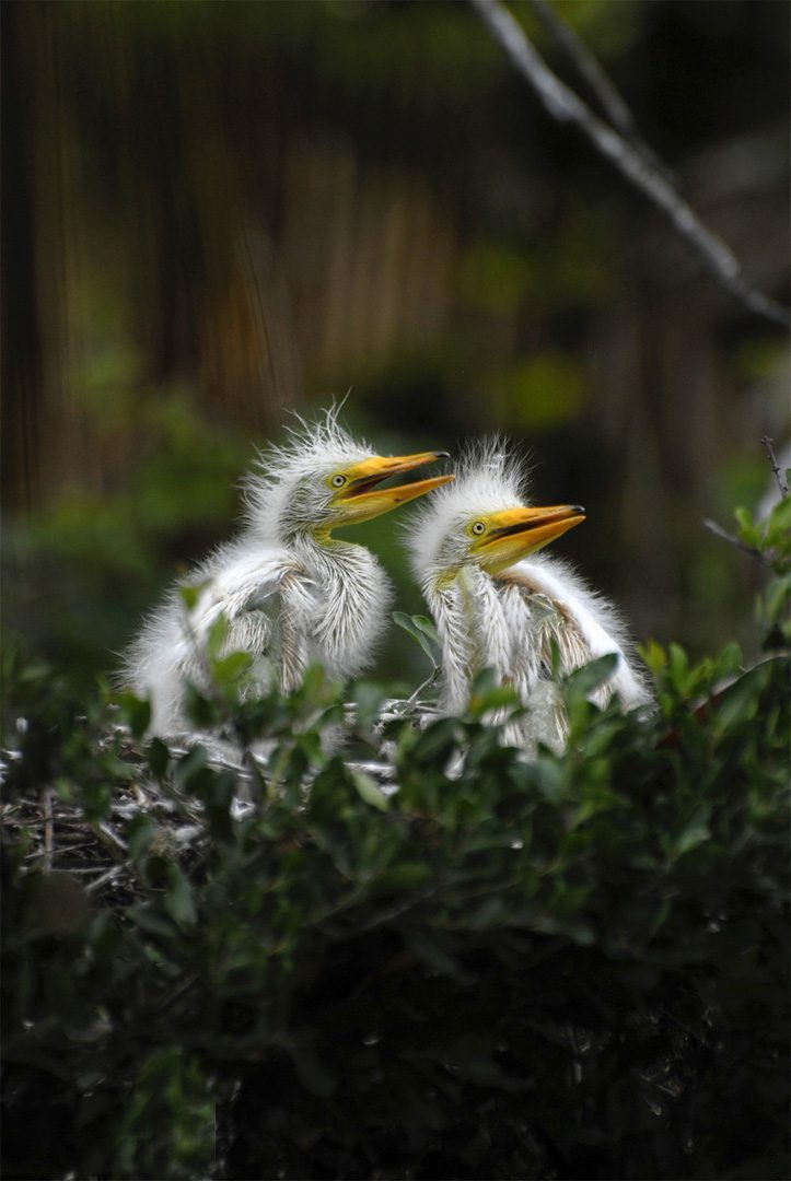
M 529 4 L 512 9 L 589 100 Z M 786 301 L 789 11 L 556 9 L 761 291 Z M 712 537 L 771 489 L 782 331 L 550 120 L 463 2 L 2 5 L 5 634 L 109 673 L 233 531 L 254 445 L 350 387 L 389 451 L 507 432 L 558 553 L 638 639 L 750 635 Z M 402 521 L 406 520 L 406 511 Z M 395 516 L 361 529 L 421 609 Z M 349 534 L 351 539 L 351 534 Z M 394 628 L 383 676 L 419 676 Z M 748 640 L 747 640 L 748 646 Z

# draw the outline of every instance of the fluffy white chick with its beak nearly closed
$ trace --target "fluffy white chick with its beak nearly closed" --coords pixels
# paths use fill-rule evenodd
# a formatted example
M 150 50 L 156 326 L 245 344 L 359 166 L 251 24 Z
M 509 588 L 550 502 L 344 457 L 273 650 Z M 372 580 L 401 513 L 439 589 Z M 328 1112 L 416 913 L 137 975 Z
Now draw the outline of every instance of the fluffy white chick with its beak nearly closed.
M 624 709 L 650 702 L 615 607 L 564 561 L 538 552 L 585 520 L 575 504 L 530 505 L 527 471 L 498 439 L 469 450 L 456 479 L 417 510 L 407 531 L 411 566 L 436 625 L 440 709 L 463 711 L 476 673 L 491 667 L 512 686 L 524 717 L 505 740 L 560 750 L 566 737 L 560 674 L 612 653 L 616 665 L 592 694 L 617 693 Z

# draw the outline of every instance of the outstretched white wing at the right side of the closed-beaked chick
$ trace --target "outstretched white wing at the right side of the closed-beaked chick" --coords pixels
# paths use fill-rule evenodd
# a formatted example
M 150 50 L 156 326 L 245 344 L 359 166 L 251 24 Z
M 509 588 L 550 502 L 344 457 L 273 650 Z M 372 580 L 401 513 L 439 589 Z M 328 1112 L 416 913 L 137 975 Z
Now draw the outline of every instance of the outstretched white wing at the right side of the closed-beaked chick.
M 568 566 L 557 559 L 525 559 L 501 576 L 504 586 L 519 587 L 531 611 L 544 607 L 539 626 L 540 642 L 549 655 L 551 641 L 557 644 L 564 672 L 571 672 L 597 657 L 614 653 L 616 668 L 609 691 L 630 707 L 650 700 L 643 680 L 631 663 L 625 629 L 615 609 L 595 594 Z M 599 699 L 609 697 L 609 691 Z

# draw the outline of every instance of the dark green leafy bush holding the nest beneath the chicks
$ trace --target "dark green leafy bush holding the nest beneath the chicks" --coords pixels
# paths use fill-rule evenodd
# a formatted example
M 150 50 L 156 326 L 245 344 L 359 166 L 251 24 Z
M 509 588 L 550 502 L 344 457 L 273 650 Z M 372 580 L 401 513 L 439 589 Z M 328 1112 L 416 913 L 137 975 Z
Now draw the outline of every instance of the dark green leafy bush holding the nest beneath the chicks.
M 648 718 L 599 661 L 559 757 L 486 677 L 426 726 L 359 685 L 341 746 L 318 672 L 220 668 L 182 751 L 12 661 L 5 1175 L 785 1177 L 787 503 L 765 659 L 650 646 Z

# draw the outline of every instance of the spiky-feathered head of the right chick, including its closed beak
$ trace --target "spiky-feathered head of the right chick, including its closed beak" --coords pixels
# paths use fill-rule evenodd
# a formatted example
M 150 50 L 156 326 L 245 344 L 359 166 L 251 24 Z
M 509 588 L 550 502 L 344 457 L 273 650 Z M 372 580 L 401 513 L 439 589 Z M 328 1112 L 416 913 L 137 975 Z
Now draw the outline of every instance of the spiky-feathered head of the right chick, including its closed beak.
M 526 475 L 495 441 L 471 452 L 456 482 L 413 523 L 408 543 L 421 580 L 449 580 L 466 566 L 500 574 L 585 520 L 576 504 L 527 505 Z

